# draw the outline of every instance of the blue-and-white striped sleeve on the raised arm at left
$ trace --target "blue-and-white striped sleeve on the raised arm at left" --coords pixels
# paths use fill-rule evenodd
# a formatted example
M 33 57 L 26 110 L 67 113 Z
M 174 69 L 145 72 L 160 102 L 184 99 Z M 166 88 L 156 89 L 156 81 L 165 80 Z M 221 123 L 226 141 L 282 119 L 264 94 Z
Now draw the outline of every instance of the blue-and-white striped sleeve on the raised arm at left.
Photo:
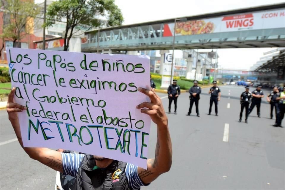
M 85 155 L 76 153 L 61 153 L 64 175 L 76 178 L 81 161 Z

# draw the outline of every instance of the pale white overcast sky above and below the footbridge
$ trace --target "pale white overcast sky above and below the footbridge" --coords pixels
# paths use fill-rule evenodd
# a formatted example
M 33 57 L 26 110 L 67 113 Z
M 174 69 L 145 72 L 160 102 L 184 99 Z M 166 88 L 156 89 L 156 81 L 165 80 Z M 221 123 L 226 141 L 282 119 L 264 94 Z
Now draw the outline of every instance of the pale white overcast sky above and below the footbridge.
M 38 2 L 42 0 L 36 0 L 36 3 Z M 115 0 L 115 4 L 122 10 L 123 24 L 181 18 L 276 3 L 284 3 L 284 0 Z M 218 49 L 219 65 L 222 68 L 249 69 L 264 56 L 264 52 L 270 50 L 272 48 Z

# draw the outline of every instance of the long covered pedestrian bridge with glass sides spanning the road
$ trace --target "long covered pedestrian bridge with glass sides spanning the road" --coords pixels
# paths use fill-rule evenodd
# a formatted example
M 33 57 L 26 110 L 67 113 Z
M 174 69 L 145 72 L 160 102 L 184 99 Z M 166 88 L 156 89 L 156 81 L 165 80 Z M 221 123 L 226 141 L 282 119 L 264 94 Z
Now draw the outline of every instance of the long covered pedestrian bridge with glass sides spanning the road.
M 81 49 L 167 50 L 174 35 L 175 49 L 285 47 L 285 3 L 98 29 Z

